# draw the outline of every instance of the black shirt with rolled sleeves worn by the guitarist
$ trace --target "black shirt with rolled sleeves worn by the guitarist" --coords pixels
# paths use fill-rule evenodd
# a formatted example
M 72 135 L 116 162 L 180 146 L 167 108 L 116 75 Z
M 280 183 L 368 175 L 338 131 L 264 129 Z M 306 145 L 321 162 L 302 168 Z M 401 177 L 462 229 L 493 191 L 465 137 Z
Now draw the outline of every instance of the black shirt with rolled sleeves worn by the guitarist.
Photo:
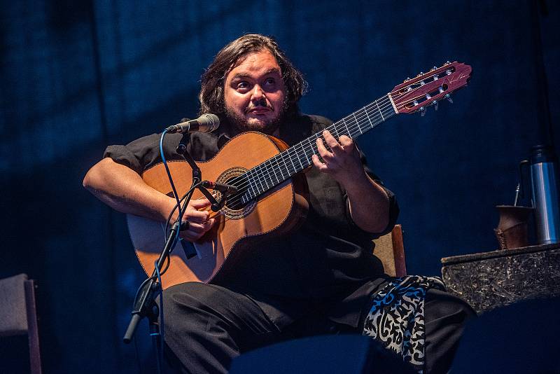
M 330 124 L 320 116 L 300 115 L 281 125 L 280 137 L 291 146 Z M 234 134 L 227 124 L 213 133 L 194 133 L 188 152 L 195 160 L 208 160 Z M 167 160 L 182 159 L 175 151 L 180 139 L 181 134 L 166 135 Z M 104 157 L 141 174 L 161 162 L 159 144 L 160 134 L 152 134 L 126 146 L 109 146 Z M 367 233 L 353 223 L 339 183 L 315 167 L 305 176 L 310 207 L 304 224 L 251 249 L 251 255 L 236 266 L 235 279 L 225 286 L 253 298 L 279 328 L 317 309 L 333 321 L 356 326 L 367 295 L 386 278 L 381 262 L 372 255 L 371 240 L 393 228 L 398 216 L 395 196 L 386 189 L 391 204 L 386 230 Z

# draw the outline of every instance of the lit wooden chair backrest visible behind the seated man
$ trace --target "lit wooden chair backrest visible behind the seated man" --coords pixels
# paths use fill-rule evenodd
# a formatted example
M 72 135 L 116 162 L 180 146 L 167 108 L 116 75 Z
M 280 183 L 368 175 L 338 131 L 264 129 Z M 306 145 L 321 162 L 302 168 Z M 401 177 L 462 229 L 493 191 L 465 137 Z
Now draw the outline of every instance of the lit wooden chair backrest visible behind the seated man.
M 373 241 L 373 254 L 381 260 L 386 275 L 403 277 L 407 275 L 405 247 L 402 242 L 402 227 L 395 225 L 391 233 Z

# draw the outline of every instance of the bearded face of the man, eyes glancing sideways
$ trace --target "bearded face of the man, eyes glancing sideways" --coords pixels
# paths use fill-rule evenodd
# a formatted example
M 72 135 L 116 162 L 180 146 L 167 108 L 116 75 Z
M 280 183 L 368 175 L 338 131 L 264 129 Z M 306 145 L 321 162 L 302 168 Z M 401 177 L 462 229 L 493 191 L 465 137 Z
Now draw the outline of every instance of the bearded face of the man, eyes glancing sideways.
M 268 50 L 249 53 L 225 77 L 225 112 L 241 131 L 272 134 L 284 113 L 286 88 Z

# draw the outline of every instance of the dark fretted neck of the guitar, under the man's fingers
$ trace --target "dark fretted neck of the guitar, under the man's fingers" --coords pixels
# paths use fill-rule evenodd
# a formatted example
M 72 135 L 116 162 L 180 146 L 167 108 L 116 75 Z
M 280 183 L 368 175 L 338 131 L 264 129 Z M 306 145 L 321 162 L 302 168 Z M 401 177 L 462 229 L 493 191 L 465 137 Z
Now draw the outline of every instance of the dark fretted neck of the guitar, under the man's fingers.
M 328 130 L 335 138 L 347 135 L 352 139 L 356 139 L 356 137 L 371 130 L 396 113 L 397 111 L 390 95 L 384 95 L 342 118 L 342 120 L 326 127 L 325 130 Z M 248 188 L 243 200 L 249 201 L 256 198 L 274 186 L 279 185 L 279 183 L 286 181 L 295 173 L 309 167 L 312 163 L 311 155 L 318 154 L 316 144 L 316 139 L 318 138 L 323 139 L 322 132 L 311 135 L 311 137 L 300 141 L 286 149 L 286 151 L 249 170 L 245 174 Z

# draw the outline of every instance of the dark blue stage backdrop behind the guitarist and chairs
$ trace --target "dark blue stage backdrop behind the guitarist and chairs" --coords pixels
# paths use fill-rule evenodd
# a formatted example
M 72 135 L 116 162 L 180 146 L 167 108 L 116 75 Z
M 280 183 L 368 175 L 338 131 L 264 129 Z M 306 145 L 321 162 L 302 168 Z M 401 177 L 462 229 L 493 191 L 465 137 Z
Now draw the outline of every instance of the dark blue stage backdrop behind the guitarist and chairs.
M 137 372 L 121 338 L 144 274 L 123 215 L 82 179 L 107 145 L 194 118 L 200 74 L 241 34 L 275 36 L 309 81 L 302 110 L 333 120 L 446 60 L 472 65 L 454 104 L 358 139 L 398 196 L 411 274 L 496 249 L 494 206 L 512 204 L 518 162 L 534 144 L 559 144 L 542 102 L 548 87 L 559 123 L 556 1 L 138 3 L 0 6 L 0 277 L 38 282 L 45 373 Z M 150 356 L 144 324 L 138 336 Z M 1 349 L 1 373 L 25 359 L 25 345 Z

